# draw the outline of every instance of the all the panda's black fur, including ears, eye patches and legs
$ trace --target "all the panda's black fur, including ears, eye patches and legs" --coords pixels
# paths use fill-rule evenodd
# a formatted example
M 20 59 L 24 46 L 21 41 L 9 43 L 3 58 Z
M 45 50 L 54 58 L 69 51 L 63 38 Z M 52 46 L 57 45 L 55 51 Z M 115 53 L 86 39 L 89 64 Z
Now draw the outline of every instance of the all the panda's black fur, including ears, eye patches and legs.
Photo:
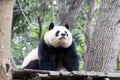
M 64 27 L 66 27 L 66 29 L 69 28 L 68 25 L 65 25 Z M 54 24 L 51 23 L 49 26 L 49 31 L 52 30 L 53 28 L 54 28 Z M 61 33 L 61 35 L 69 36 L 67 32 Z M 57 32 L 55 36 L 56 37 L 58 36 Z M 38 46 L 38 59 L 35 61 L 35 63 L 31 62 L 24 68 L 39 69 L 39 70 L 54 70 L 54 71 L 61 70 L 62 68 L 65 68 L 68 71 L 79 70 L 79 60 L 73 40 L 70 43 L 70 45 L 64 47 L 64 46 L 51 45 L 51 43 L 45 41 L 45 39 L 48 38 L 45 38 L 45 36 L 43 36 L 42 39 L 40 40 Z

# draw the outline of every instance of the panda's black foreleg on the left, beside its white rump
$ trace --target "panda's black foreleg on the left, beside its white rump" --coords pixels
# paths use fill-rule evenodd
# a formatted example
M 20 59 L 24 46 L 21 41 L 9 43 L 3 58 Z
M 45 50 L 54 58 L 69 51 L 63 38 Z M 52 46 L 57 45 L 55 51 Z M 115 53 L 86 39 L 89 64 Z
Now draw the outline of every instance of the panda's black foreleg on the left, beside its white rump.
M 39 44 L 38 57 L 39 57 L 38 64 L 40 70 L 53 69 L 53 58 L 52 55 L 49 53 L 49 48 L 45 44 L 44 40 L 42 40 Z

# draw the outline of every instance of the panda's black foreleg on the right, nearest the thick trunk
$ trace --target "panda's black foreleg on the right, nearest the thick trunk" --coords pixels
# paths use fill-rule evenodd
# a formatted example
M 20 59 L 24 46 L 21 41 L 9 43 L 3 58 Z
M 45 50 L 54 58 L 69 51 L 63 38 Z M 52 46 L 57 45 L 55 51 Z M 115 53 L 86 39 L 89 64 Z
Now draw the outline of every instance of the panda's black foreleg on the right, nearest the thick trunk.
M 78 71 L 79 70 L 79 59 L 76 52 L 74 42 L 67 49 L 67 54 L 65 58 L 65 67 L 68 71 Z

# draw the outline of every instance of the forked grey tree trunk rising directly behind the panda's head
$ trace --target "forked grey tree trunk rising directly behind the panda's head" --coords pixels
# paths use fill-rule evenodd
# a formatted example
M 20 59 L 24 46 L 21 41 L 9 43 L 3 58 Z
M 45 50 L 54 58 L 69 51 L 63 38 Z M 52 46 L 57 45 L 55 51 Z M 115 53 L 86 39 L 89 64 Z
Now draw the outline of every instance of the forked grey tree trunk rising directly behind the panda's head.
M 70 30 L 73 29 L 82 0 L 70 0 L 69 7 L 65 5 L 65 0 L 58 0 L 59 18 L 61 25 L 68 24 Z

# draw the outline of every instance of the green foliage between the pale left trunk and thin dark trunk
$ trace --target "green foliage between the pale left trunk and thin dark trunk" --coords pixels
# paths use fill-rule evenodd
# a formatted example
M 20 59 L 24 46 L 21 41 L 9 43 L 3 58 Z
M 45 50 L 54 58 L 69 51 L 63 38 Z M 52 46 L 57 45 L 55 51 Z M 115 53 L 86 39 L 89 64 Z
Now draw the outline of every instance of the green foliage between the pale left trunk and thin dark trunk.
M 16 0 L 13 13 L 11 53 L 17 65 L 38 45 L 37 15 L 41 0 Z M 22 10 L 21 10 L 21 8 Z M 25 15 L 23 15 L 23 13 Z

